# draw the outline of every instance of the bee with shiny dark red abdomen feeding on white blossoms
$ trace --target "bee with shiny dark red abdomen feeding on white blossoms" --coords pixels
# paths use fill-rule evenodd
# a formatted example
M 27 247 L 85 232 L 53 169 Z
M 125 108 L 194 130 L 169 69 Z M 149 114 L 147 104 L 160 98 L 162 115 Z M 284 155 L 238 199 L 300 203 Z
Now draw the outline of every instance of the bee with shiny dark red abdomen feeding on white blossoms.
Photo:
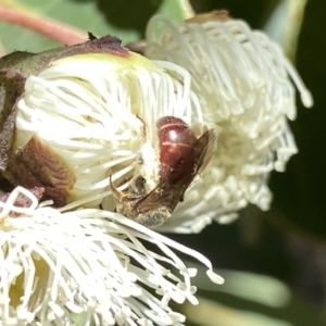
M 213 129 L 199 138 L 181 120 L 174 116 L 161 117 L 156 123 L 160 172 L 158 185 L 145 190 L 146 180 L 139 176 L 131 193 L 117 190 L 111 181 L 114 196 L 118 199 L 116 211 L 149 228 L 164 224 L 187 188 L 201 174 L 215 150 L 216 135 Z

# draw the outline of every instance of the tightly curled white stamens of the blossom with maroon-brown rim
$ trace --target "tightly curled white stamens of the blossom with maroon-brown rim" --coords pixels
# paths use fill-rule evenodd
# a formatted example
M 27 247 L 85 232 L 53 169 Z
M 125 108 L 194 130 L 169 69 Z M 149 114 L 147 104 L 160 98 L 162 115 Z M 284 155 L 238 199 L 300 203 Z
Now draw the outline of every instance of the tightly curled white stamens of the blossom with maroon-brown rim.
M 179 116 L 188 124 L 193 118 L 202 121 L 189 73 L 176 64 L 137 55 L 72 57 L 54 61 L 25 83 L 15 149 L 38 135 L 73 168 L 76 183 L 66 209 L 97 206 L 103 192 L 112 197 L 108 192 L 111 173 L 126 189 L 134 172 L 146 166 L 146 179 L 154 185 L 158 158 L 150 162 L 142 158 L 140 164 L 138 155 L 143 143 L 155 150 L 155 122 L 164 115 Z

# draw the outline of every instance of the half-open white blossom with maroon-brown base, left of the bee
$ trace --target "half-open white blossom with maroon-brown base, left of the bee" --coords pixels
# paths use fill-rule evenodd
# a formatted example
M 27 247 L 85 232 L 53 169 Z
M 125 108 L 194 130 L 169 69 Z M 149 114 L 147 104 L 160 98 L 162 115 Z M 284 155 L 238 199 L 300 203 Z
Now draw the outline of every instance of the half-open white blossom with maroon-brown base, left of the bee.
M 103 199 L 114 210 L 110 178 L 123 191 L 140 175 L 150 191 L 160 167 L 155 122 L 203 123 L 186 70 L 133 53 L 114 37 L 15 62 L 17 54 L 1 59 L 5 91 L 20 96 L 0 109 L 0 172 L 14 185 L 45 187 L 63 210 Z

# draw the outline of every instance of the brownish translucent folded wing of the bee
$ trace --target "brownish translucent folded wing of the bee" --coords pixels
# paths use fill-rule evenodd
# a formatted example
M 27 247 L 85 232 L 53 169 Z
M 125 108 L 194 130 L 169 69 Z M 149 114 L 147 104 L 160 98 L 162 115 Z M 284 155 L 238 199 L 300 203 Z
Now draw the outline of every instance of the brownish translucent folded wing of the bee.
M 165 178 L 162 179 L 151 192 L 135 204 L 134 209 L 137 213 L 147 213 L 160 206 L 168 208 L 170 211 L 173 212 L 195 176 L 201 173 L 209 163 L 215 150 L 215 145 L 216 136 L 213 129 L 205 131 L 199 137 L 192 147 L 189 148 L 189 151 L 180 158 L 180 160 L 184 160 L 186 163 L 189 162 L 190 164 L 193 162 L 189 159 L 191 155 L 198 158 L 195 168 L 190 170 L 192 172 L 178 179 L 177 183 L 172 183 L 171 173 L 173 170 L 171 170 Z M 177 166 L 178 164 L 179 161 L 176 161 L 175 165 Z

